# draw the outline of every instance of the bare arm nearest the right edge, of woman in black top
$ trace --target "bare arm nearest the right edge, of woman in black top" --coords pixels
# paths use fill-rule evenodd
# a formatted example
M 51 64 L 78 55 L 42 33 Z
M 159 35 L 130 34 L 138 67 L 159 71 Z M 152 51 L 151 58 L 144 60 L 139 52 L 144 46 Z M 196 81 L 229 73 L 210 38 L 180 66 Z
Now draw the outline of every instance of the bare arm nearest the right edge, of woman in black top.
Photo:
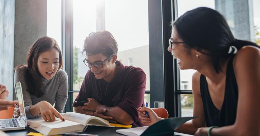
M 235 124 L 214 128 L 211 136 L 259 135 L 259 49 L 243 47 L 234 58 L 238 84 L 238 107 Z M 207 135 L 208 127 L 199 128 L 195 135 Z

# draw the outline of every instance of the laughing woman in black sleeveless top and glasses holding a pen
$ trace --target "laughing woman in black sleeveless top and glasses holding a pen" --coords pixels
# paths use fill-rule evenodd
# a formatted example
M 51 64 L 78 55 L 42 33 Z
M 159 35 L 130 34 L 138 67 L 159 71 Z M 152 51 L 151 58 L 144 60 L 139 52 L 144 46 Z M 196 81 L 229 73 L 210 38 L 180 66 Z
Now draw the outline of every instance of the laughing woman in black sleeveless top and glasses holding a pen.
M 224 17 L 199 7 L 173 22 L 168 51 L 192 76 L 193 119 L 176 132 L 191 135 L 259 135 L 259 46 L 236 40 Z M 141 122 L 161 120 L 139 108 Z M 145 117 L 144 112 L 148 112 Z

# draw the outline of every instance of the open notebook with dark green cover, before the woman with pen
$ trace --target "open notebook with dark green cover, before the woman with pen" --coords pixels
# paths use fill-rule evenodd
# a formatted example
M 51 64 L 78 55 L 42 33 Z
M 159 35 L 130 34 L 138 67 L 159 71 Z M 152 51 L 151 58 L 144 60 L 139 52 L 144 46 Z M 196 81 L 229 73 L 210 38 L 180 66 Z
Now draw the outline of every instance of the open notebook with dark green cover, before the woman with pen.
M 157 136 L 173 134 L 174 130 L 183 123 L 196 117 L 173 117 L 160 120 L 151 126 L 143 126 L 131 129 L 117 129 L 116 132 L 128 136 Z

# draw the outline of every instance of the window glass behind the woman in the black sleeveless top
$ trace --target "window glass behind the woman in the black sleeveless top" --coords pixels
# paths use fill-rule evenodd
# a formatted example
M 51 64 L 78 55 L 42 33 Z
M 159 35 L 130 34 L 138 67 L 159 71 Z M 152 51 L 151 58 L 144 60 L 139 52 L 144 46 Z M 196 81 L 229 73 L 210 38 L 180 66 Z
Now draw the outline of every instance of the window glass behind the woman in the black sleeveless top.
M 188 4 L 187 4 L 188 3 Z M 235 38 L 259 43 L 260 13 L 259 1 L 216 1 L 216 0 L 178 0 L 177 16 L 196 7 L 209 7 L 220 12 L 227 20 Z M 234 8 L 236 7 L 236 8 Z M 251 8 L 253 7 L 253 8 Z M 238 10 L 239 9 L 239 10 Z M 257 11 L 258 10 L 258 11 Z M 195 70 L 179 70 L 180 73 L 180 104 L 182 117 L 193 115 L 193 96 L 191 95 L 191 77 Z M 189 94 L 182 94 L 183 91 Z

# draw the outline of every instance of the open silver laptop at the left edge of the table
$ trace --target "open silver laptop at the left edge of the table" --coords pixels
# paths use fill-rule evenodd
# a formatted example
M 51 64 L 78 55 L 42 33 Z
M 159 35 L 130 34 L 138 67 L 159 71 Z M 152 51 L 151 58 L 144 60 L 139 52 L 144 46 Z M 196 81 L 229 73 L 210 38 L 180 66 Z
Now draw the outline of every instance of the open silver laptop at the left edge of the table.
M 17 106 L 20 110 L 20 116 L 18 118 L 11 119 L 0 119 L 0 130 L 21 130 L 27 127 L 26 115 L 24 111 L 24 102 L 22 97 L 22 86 L 18 82 L 14 85 L 16 98 L 19 100 L 19 105 Z

